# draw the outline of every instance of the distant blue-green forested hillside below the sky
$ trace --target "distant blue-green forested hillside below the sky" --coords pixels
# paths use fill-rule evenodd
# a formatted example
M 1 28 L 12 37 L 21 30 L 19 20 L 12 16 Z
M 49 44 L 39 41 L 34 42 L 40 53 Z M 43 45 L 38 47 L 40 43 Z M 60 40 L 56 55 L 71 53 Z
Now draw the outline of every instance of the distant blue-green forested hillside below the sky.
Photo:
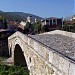
M 28 16 L 33 16 L 33 18 L 36 18 L 38 20 L 43 19 L 42 17 L 36 16 L 33 14 L 29 14 L 29 13 L 23 13 L 23 12 L 3 12 L 3 11 L 0 11 L 0 15 L 8 20 L 13 20 L 13 21 L 25 20 Z

